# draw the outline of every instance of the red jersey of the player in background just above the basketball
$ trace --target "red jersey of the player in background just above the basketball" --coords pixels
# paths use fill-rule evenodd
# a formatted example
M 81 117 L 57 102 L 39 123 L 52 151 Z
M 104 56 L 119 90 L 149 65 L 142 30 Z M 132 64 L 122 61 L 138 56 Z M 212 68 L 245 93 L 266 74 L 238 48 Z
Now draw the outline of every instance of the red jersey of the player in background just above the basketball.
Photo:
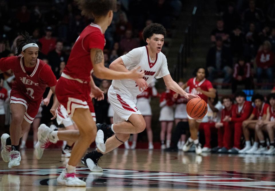
M 207 96 L 198 92 L 196 89 L 200 87 L 204 91 L 208 91 L 210 88 L 213 88 L 211 82 L 209 80 L 206 80 L 204 78 L 201 82 L 197 82 L 195 78 L 190 78 L 187 82 L 187 86 L 189 86 L 189 93 L 190 94 L 196 94 L 201 97 L 206 103 L 207 103 Z

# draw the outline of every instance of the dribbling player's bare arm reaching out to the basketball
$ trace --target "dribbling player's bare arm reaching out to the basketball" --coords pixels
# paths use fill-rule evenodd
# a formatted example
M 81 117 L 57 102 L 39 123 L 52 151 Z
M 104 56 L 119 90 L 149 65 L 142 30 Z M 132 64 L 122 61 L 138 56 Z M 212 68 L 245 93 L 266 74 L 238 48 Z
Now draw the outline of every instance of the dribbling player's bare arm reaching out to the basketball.
M 165 83 L 165 86 L 167 86 L 168 88 L 170 88 L 171 90 L 173 90 L 174 92 L 178 93 L 178 94 L 181 94 L 183 95 L 185 98 L 187 99 L 192 99 L 192 98 L 195 98 L 195 97 L 199 97 L 199 95 L 195 95 L 195 94 L 188 94 L 186 93 L 179 85 L 178 83 L 176 83 L 170 74 L 166 75 L 163 77 L 163 80 L 164 80 L 164 83 Z

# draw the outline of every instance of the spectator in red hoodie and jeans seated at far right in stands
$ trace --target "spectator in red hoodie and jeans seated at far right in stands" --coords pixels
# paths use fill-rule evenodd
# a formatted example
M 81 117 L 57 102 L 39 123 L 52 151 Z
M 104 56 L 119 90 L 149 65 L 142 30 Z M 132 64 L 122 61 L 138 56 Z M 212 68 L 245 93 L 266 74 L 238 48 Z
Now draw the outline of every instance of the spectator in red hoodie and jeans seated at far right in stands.
M 256 56 L 258 83 L 262 83 L 263 72 L 265 72 L 268 77 L 269 86 L 273 83 L 274 56 L 274 53 L 271 51 L 270 42 L 268 40 L 264 41 Z

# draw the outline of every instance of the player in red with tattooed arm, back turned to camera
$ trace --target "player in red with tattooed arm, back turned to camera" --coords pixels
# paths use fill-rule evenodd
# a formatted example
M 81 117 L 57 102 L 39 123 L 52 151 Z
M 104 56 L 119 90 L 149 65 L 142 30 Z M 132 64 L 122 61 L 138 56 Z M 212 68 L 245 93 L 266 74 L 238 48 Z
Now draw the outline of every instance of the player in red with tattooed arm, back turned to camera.
M 144 76 L 140 67 L 126 72 L 116 72 L 104 66 L 104 32 L 113 19 L 116 1 L 77 0 L 76 2 L 83 15 L 94 17 L 95 20 L 76 39 L 67 65 L 56 85 L 56 95 L 58 101 L 67 109 L 68 115 L 76 123 L 79 131 L 51 131 L 49 127 L 42 124 L 38 129 L 39 141 L 35 150 L 36 157 L 40 159 L 44 149 L 50 143 L 56 143 L 58 140 L 75 143 L 66 168 L 57 178 L 59 184 L 66 186 L 86 186 L 86 182 L 75 176 L 75 168 L 87 148 L 95 141 L 97 134 L 97 127 L 91 115 L 94 112 L 94 107 L 90 93 L 99 97 L 103 95 L 103 92 L 91 80 L 93 70 L 96 77 L 109 80 L 137 80 Z M 103 131 L 101 132 L 103 137 Z

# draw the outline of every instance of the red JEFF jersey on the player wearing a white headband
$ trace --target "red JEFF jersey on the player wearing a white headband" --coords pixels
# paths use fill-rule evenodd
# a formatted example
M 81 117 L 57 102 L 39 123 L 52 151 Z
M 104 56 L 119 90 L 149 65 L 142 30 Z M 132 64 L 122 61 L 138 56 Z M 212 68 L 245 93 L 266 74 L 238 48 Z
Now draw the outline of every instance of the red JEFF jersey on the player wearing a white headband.
M 23 56 L 0 59 L 0 70 L 5 72 L 11 69 L 15 76 L 11 94 L 16 91 L 30 100 L 41 100 L 46 85 L 50 87 L 56 85 L 56 77 L 50 67 L 40 59 L 37 59 L 36 66 L 32 68 L 25 67 L 23 62 Z

